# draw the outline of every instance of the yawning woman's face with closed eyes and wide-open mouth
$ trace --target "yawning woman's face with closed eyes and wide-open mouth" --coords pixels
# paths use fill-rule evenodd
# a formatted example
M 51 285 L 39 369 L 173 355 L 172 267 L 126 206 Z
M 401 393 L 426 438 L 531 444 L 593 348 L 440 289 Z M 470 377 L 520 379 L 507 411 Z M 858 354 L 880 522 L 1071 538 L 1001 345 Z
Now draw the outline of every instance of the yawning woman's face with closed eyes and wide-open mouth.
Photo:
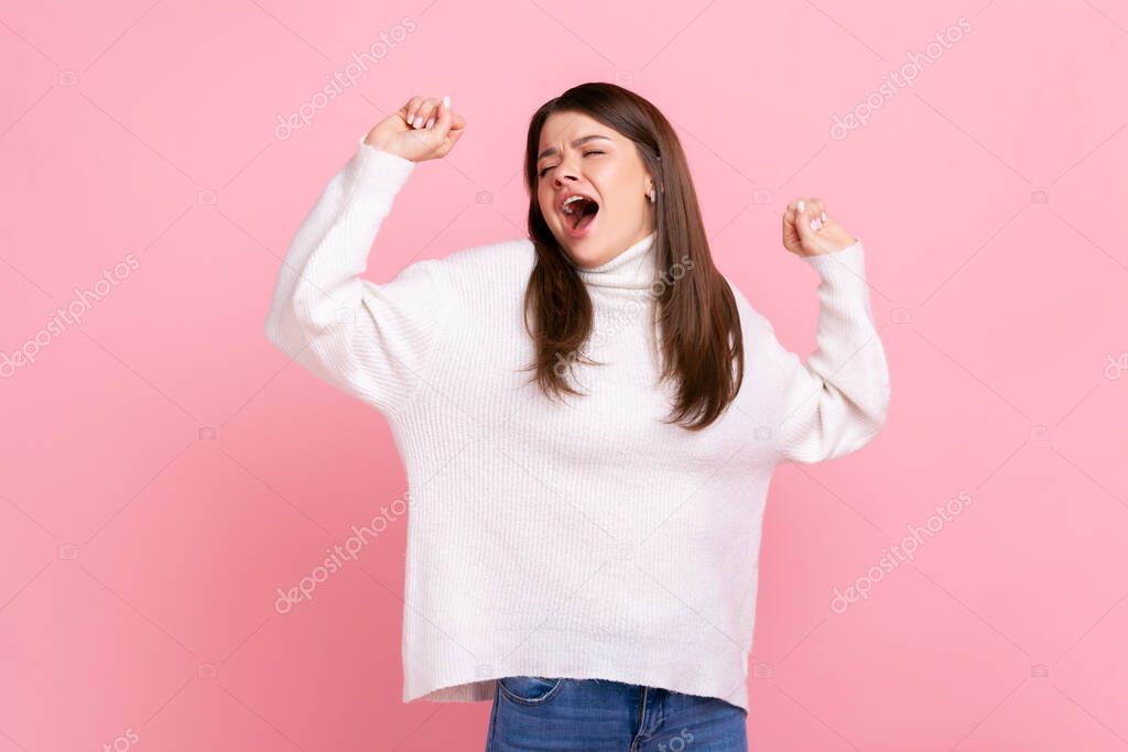
M 650 171 L 629 139 L 583 113 L 556 112 L 537 154 L 540 213 L 574 264 L 605 264 L 653 232 Z M 569 214 L 561 202 L 571 194 L 591 201 L 571 203 Z

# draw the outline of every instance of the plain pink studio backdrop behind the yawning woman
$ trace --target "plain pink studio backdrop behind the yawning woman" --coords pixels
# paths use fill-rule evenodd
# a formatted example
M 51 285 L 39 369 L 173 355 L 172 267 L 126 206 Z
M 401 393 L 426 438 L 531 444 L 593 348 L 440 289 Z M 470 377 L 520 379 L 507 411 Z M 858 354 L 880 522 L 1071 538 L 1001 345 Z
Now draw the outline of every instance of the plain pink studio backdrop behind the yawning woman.
M 415 94 L 468 121 L 399 195 L 386 281 L 521 237 L 528 118 L 587 80 L 668 115 L 719 265 L 792 350 L 817 278 L 785 204 L 867 249 L 890 421 L 773 484 L 751 749 L 1128 749 L 1122 3 L 97 5 L 0 7 L 0 752 L 483 747 L 488 704 L 400 700 L 403 517 L 275 610 L 405 478 L 382 416 L 263 324 L 372 124 Z

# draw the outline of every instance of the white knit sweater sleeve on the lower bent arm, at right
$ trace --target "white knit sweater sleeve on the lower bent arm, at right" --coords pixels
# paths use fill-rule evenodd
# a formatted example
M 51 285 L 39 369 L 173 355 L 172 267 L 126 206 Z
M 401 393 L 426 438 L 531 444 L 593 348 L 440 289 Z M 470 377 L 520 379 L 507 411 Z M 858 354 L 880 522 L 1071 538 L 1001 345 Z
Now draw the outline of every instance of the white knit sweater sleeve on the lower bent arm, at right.
M 862 240 L 803 258 L 820 278 L 817 347 L 803 363 L 770 325 L 768 346 L 784 371 L 782 461 L 814 463 L 849 454 L 878 434 L 889 408 L 889 365 L 870 309 Z

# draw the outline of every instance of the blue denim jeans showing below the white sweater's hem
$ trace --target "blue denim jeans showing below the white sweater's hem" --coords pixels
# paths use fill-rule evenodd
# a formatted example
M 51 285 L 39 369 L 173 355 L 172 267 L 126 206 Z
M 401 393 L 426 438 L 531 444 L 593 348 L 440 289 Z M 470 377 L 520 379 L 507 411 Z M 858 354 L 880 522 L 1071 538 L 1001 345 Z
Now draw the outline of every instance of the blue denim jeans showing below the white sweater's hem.
M 743 708 L 603 679 L 497 680 L 486 752 L 747 752 Z

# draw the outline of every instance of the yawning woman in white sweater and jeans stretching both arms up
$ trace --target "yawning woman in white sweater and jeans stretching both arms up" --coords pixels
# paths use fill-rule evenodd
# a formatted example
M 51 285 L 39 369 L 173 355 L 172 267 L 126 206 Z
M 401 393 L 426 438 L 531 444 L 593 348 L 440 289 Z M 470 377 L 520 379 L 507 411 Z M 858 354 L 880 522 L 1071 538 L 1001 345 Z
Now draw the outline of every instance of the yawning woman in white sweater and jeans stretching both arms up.
M 772 474 L 885 421 L 862 242 L 788 204 L 783 246 L 820 280 L 804 363 L 714 266 L 666 117 L 585 83 L 529 124 L 527 238 L 361 278 L 415 166 L 465 127 L 413 97 L 359 139 L 266 322 L 404 461 L 404 701 L 492 700 L 495 752 L 744 750 Z

